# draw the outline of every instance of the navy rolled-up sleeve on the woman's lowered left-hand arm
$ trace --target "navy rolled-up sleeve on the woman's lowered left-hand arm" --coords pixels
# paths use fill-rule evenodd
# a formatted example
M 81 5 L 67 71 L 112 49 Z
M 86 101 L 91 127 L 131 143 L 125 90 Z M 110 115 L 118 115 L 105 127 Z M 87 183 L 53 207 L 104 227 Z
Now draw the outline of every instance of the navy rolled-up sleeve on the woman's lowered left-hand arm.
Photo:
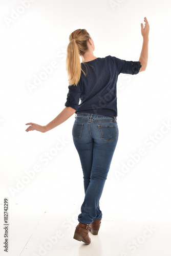
M 68 86 L 68 94 L 67 94 L 67 101 L 65 103 L 65 106 L 71 106 L 74 110 L 78 110 L 79 106 L 79 99 L 81 90 L 79 85 L 77 86 Z

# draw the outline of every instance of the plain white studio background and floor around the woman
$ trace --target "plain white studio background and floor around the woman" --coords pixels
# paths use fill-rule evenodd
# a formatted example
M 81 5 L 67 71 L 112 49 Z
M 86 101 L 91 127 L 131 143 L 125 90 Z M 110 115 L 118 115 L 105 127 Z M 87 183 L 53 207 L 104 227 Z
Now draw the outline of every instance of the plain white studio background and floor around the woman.
M 106 256 L 170 255 L 170 1 L 36 0 L 21 9 L 22 2 L 1 1 L 0 8 L 0 251 L 7 197 L 11 225 L 8 255 L 40 255 L 38 247 L 46 243 L 47 232 L 51 237 L 55 232 L 46 228 L 54 227 L 55 222 L 54 230 L 62 230 L 65 238 L 46 255 L 94 255 L 93 242 L 84 251 L 83 243 L 72 239 L 84 198 L 81 164 L 72 140 L 75 114 L 47 133 L 27 133 L 26 123 L 46 125 L 65 108 L 69 85 L 66 50 L 74 30 L 87 29 L 96 57 L 138 61 L 140 24 L 146 16 L 150 27 L 146 71 L 118 77 L 119 139 L 100 200 L 103 223 L 110 221 L 112 229 L 105 231 L 112 232 L 112 237 L 96 240 L 96 245 L 98 254 L 105 252 Z M 16 11 L 23 13 L 15 14 L 14 19 Z M 53 72 L 29 89 L 35 76 L 53 61 L 57 63 Z M 144 155 L 138 157 L 140 148 Z M 137 162 L 131 154 L 136 154 Z M 35 165 L 39 172 L 35 172 Z M 123 165 L 127 167 L 123 169 Z M 28 178 L 28 173 L 34 177 Z M 44 216 L 45 211 L 49 217 Z M 74 224 L 68 231 L 61 223 L 73 216 Z M 40 231 L 37 223 L 41 223 Z M 127 244 L 150 225 L 156 231 L 131 253 Z

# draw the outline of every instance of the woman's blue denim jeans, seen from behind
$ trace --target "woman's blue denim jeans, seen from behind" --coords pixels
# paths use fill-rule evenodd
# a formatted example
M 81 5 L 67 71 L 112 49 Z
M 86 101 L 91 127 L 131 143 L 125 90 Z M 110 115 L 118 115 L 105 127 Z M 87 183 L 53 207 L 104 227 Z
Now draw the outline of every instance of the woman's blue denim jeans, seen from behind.
M 90 224 L 102 218 L 99 200 L 118 141 L 117 118 L 91 113 L 77 113 L 72 129 L 78 152 L 85 197 L 78 221 Z

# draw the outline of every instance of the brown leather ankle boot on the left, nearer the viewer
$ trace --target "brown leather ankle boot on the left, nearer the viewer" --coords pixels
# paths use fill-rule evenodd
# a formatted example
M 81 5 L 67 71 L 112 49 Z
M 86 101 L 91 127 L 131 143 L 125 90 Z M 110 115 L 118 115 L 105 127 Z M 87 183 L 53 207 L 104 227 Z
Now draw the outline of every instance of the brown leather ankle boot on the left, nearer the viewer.
M 82 241 L 86 244 L 90 244 L 91 238 L 89 237 L 89 229 L 90 229 L 90 224 L 87 225 L 79 222 L 79 224 L 76 226 L 73 238 L 78 241 Z

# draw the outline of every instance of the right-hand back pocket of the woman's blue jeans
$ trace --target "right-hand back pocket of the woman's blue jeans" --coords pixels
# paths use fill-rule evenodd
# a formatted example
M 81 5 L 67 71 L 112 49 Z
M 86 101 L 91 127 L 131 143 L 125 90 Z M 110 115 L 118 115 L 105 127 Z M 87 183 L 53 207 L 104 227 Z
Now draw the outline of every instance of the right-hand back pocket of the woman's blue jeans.
M 115 140 L 117 138 L 116 125 L 102 125 L 98 124 L 98 129 L 100 132 L 100 138 L 103 140 Z

